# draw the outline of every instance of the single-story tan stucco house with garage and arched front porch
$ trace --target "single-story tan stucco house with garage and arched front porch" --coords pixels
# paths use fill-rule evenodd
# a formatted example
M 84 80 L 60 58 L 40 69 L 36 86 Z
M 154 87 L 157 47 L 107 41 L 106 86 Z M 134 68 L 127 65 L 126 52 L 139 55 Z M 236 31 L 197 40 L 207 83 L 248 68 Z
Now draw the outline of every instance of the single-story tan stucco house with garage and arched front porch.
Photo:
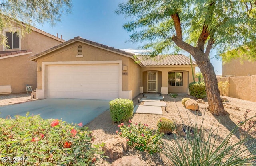
M 153 60 L 133 55 L 74 37 L 30 57 L 37 62 L 36 97 L 112 100 L 143 92 L 187 93 L 193 82 L 188 57 L 160 55 Z M 192 65 L 195 71 L 196 62 Z

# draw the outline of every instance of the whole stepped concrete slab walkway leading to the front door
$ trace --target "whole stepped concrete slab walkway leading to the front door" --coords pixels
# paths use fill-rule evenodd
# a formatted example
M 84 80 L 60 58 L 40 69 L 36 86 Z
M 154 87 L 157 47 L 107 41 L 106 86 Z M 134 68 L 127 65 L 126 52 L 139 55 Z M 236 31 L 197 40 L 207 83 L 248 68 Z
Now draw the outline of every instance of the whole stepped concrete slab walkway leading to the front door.
M 163 96 L 159 94 L 144 94 L 147 98 L 142 98 L 140 101 L 144 102 L 143 105 L 136 105 L 134 113 L 148 113 L 148 114 L 162 114 L 162 108 L 166 106 L 166 102 L 160 101 Z

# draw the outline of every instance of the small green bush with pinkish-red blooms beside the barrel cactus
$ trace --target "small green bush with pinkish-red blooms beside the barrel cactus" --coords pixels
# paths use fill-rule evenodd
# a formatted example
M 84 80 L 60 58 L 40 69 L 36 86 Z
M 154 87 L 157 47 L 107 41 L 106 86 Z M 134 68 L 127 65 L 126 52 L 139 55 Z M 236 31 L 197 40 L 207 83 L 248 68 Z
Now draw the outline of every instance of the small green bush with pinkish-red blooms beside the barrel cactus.
M 157 145 L 162 144 L 162 134 L 158 131 L 154 132 L 146 124 L 133 124 L 130 120 L 129 122 L 130 124 L 127 126 L 123 123 L 118 125 L 121 132 L 117 130 L 116 133 L 121 137 L 126 137 L 129 146 L 133 146 L 140 151 L 149 152 L 150 154 L 157 152 Z

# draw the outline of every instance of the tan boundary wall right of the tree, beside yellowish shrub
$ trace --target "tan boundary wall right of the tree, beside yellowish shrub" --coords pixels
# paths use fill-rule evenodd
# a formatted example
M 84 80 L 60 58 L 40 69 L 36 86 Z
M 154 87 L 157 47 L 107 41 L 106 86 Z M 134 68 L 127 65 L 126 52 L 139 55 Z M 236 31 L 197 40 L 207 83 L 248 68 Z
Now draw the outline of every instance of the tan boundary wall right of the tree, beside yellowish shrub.
M 228 96 L 256 102 L 256 75 L 217 78 L 218 82 L 228 81 Z

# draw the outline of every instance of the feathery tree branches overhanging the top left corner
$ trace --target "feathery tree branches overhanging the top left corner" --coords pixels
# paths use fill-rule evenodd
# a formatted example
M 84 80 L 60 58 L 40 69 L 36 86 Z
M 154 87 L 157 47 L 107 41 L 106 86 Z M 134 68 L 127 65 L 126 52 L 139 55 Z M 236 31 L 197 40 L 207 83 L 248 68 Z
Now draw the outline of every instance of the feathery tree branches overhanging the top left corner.
M 4 29 L 17 31 L 20 37 L 31 32 L 30 25 L 55 25 L 63 13 L 71 12 L 71 0 L 1 0 L 0 44 L 6 43 Z

